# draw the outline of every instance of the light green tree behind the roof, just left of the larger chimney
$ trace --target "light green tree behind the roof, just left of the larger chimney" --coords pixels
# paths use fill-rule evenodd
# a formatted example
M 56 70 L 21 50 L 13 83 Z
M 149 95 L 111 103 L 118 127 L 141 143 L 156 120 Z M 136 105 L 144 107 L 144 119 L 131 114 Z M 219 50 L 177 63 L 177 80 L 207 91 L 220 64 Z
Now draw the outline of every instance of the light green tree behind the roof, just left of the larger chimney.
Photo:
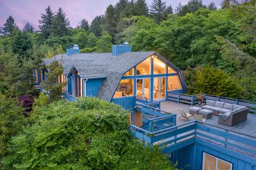
M 111 52 L 112 50 L 112 37 L 107 32 L 103 32 L 102 36 L 97 41 L 97 52 Z

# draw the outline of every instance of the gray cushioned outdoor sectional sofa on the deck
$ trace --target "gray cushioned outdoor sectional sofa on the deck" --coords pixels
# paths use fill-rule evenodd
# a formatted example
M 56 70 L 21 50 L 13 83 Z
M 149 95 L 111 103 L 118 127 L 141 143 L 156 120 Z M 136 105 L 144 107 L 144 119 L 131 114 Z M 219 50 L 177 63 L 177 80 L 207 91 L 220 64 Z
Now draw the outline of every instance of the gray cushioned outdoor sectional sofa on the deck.
M 209 99 L 206 100 L 206 104 L 202 108 L 212 110 L 213 115 L 219 116 L 218 123 L 228 126 L 233 126 L 247 120 L 247 114 L 249 112 L 249 108 L 245 106 Z

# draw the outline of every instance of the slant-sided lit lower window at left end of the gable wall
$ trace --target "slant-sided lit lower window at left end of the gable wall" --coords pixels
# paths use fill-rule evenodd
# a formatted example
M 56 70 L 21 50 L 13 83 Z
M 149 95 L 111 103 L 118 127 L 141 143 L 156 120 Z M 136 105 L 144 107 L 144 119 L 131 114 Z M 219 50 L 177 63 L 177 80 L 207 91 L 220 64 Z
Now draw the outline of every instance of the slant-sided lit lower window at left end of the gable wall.
M 113 98 L 133 96 L 133 79 L 121 80 Z

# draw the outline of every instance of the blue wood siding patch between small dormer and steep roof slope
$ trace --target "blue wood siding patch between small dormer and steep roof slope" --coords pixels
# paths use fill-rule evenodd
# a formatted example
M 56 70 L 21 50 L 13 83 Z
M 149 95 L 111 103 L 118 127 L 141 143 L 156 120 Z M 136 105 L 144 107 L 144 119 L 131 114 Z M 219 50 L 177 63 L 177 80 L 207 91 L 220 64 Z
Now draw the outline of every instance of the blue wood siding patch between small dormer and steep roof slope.
M 97 95 L 99 88 L 104 79 L 88 79 L 85 83 L 86 96 L 94 97 Z

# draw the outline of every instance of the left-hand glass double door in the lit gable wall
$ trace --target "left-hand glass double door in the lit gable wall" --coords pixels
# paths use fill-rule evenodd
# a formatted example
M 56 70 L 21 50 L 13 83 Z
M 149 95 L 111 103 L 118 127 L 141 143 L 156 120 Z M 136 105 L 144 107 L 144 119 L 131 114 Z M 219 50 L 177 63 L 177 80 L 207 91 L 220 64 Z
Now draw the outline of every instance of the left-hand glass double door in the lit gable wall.
M 136 95 L 141 98 L 150 99 L 150 79 L 136 80 Z

